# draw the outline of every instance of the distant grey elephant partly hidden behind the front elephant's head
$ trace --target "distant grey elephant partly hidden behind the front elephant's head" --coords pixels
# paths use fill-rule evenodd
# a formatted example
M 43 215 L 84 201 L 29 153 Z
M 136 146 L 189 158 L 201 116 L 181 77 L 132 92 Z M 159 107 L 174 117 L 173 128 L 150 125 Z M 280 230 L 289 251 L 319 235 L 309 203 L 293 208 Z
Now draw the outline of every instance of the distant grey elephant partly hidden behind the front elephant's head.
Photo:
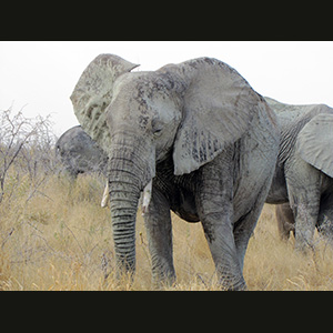
M 84 172 L 107 175 L 107 154 L 80 125 L 69 129 L 59 138 L 56 153 L 72 179 Z

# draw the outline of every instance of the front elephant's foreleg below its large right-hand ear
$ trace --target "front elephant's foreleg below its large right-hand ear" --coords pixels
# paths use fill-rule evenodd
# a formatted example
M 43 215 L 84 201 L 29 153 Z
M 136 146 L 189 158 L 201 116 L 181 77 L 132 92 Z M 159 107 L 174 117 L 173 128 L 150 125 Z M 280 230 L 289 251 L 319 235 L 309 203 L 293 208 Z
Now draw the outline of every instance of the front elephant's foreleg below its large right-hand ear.
M 232 164 L 220 163 L 218 167 L 211 163 L 202 170 L 202 183 L 196 196 L 198 213 L 219 283 L 225 290 L 244 290 L 246 284 L 233 234 Z

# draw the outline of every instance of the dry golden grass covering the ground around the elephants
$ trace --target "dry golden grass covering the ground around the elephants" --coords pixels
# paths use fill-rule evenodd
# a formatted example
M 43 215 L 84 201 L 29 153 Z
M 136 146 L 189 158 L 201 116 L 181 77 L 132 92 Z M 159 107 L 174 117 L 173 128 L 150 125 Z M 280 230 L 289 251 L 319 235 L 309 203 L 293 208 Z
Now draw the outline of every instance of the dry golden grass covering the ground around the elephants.
M 0 205 L 0 290 L 153 289 L 140 213 L 134 281 L 114 276 L 110 213 L 100 208 L 102 180 L 82 175 L 70 185 L 50 176 L 27 201 L 28 190 L 22 182 L 16 202 Z M 173 215 L 173 235 L 178 283 L 167 290 L 215 290 L 200 223 Z M 293 240 L 280 241 L 274 210 L 266 205 L 249 244 L 244 276 L 250 290 L 333 290 L 332 262 L 332 249 L 317 235 L 316 251 L 306 258 L 293 251 Z

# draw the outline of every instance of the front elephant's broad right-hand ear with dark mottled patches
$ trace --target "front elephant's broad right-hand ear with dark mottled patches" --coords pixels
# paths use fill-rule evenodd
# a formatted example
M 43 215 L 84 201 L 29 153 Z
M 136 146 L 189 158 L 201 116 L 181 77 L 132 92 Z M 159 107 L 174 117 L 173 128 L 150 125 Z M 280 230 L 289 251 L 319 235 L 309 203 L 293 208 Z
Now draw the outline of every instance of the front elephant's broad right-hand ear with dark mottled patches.
M 170 70 L 186 82 L 183 121 L 173 148 L 175 174 L 212 161 L 246 132 L 259 108 L 269 109 L 234 69 L 216 59 L 199 58 Z

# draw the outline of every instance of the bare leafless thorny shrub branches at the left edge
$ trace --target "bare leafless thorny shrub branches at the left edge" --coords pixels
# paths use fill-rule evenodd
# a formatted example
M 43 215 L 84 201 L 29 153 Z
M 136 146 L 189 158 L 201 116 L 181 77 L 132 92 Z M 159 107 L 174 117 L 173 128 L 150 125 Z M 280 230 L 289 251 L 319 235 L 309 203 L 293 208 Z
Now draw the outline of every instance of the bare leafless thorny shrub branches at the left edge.
M 52 148 L 56 135 L 52 134 L 50 117 L 40 115 L 29 119 L 22 109 L 14 113 L 12 109 L 0 113 L 0 204 L 4 196 L 14 195 L 14 188 L 24 175 L 30 179 L 27 202 L 38 193 L 46 175 L 53 171 L 56 162 Z M 13 183 L 11 180 L 18 182 Z

